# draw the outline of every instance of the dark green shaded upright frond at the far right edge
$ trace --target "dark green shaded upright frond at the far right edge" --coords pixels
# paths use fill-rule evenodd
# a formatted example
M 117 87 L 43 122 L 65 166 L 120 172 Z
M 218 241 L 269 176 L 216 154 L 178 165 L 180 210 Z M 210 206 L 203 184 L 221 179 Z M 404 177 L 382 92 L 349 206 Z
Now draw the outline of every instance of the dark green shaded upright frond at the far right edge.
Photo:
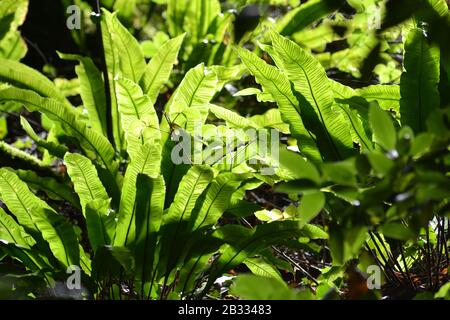
M 425 129 L 428 116 L 439 107 L 439 48 L 429 43 L 424 31 L 411 29 L 405 42 L 404 67 L 400 80 L 402 125 L 414 131 Z

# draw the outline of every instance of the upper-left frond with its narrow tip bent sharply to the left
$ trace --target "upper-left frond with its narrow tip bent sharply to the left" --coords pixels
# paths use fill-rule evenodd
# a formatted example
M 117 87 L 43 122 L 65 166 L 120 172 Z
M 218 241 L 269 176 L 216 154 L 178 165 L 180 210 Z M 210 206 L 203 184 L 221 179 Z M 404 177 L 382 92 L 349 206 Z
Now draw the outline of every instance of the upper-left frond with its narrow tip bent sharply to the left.
M 83 106 L 89 115 L 89 124 L 92 129 L 106 136 L 106 96 L 100 70 L 89 57 L 74 54 L 60 54 L 60 57 L 80 62 L 75 67 L 75 72 L 80 80 L 80 95 L 83 100 Z

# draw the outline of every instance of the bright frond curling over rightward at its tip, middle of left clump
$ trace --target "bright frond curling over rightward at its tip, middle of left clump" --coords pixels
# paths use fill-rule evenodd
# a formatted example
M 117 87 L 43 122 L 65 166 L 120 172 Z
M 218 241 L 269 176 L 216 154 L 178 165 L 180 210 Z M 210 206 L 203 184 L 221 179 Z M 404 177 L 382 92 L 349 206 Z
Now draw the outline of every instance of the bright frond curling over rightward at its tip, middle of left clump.
M 161 166 L 161 152 L 158 145 L 142 145 L 140 152 L 131 159 L 127 167 L 122 186 L 122 195 L 120 198 L 120 208 L 115 246 L 131 245 L 135 240 L 136 226 L 136 180 L 139 174 L 146 174 L 151 178 L 159 175 Z

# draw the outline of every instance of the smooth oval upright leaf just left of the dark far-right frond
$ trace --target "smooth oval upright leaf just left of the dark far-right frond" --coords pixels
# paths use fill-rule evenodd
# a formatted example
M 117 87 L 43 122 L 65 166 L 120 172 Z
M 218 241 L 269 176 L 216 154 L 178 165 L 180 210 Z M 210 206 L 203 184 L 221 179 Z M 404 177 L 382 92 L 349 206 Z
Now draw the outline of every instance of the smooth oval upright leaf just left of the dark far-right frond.
M 370 126 L 373 131 L 373 141 L 386 151 L 395 150 L 397 133 L 392 119 L 376 104 L 370 106 Z

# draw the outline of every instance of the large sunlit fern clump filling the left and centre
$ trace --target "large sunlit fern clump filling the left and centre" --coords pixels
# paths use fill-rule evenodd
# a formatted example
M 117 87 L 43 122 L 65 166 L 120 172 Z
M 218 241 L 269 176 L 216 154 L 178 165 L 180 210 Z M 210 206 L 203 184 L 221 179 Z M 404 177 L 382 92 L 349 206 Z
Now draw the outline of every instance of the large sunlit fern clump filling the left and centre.
M 296 222 L 253 230 L 217 224 L 227 209 L 241 204 L 247 183 L 257 186 L 258 179 L 274 181 L 288 173 L 279 170 L 273 178 L 263 178 L 258 165 L 172 162 L 173 123 L 166 117 L 160 121 L 154 104 L 169 79 L 184 35 L 169 40 L 146 64 L 137 40 L 115 14 L 103 10 L 101 25 L 104 74 L 90 58 L 60 54 L 79 62 L 82 107 L 74 107 L 38 71 L 12 60 L 0 61 L 0 78 L 5 83 L 0 101 L 39 112 L 49 130 L 43 139 L 22 118 L 24 130 L 46 159 L 7 144 L 5 152 L 50 172 L 43 178 L 20 164 L 0 169 L 2 252 L 50 288 L 67 277 L 67 268 L 80 266 L 83 283 L 95 298 L 165 299 L 205 295 L 227 270 L 270 245 L 300 236 Z M 176 126 L 188 132 L 192 141 L 195 121 L 210 132 L 276 126 L 211 103 L 242 70 L 199 64 L 186 73 L 164 114 L 177 119 Z M 208 114 L 226 124 L 205 124 Z M 201 152 L 214 147 L 208 141 L 202 143 Z M 249 138 L 244 139 L 232 151 L 234 156 L 226 156 L 237 157 L 249 143 Z M 51 170 L 52 160 L 57 159 L 64 161 L 67 176 Z M 33 191 L 44 192 L 49 201 Z M 52 199 L 69 203 L 77 216 L 68 221 Z M 200 284 L 202 290 L 196 291 Z

